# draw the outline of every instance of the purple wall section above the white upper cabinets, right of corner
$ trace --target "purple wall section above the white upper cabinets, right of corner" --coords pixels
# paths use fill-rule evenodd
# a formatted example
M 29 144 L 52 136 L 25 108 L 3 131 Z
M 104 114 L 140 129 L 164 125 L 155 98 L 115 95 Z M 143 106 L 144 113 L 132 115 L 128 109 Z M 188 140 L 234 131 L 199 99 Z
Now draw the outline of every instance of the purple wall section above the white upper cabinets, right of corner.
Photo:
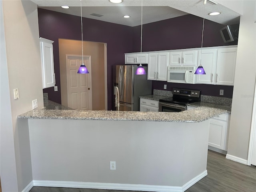
M 203 18 L 184 15 L 142 26 L 142 51 L 174 50 L 201 47 Z M 204 21 L 203 47 L 236 45 L 224 43 L 220 29 L 224 25 Z M 133 52 L 140 52 L 140 26 L 133 27 Z

